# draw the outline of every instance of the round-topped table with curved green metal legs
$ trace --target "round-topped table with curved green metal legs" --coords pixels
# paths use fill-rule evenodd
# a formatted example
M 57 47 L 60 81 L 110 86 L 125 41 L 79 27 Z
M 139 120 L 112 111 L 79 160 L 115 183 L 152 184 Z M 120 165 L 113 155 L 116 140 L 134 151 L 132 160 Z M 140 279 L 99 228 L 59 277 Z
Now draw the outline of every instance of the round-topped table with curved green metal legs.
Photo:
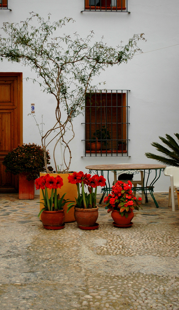
M 94 165 L 94 166 L 86 166 L 86 169 L 89 170 L 89 173 L 94 172 L 95 174 L 99 175 L 98 171 L 101 172 L 101 175 L 104 176 L 104 171 L 107 171 L 107 182 L 105 187 L 102 188 L 101 192 L 103 193 L 101 200 L 99 203 L 102 202 L 105 193 L 108 192 L 110 193 L 111 191 L 111 186 L 110 186 L 110 181 L 109 181 L 109 171 L 114 172 L 114 184 L 117 182 L 117 175 L 120 174 L 121 172 L 128 173 L 128 174 L 138 174 L 139 172 L 141 173 L 141 187 L 133 187 L 132 190 L 134 191 L 142 191 L 142 194 L 145 195 L 145 202 L 148 202 L 147 198 L 147 191 L 149 191 L 151 197 L 154 200 L 155 206 L 158 208 L 158 203 L 155 200 L 154 197 L 154 184 L 155 182 L 159 179 L 161 175 L 161 171 L 163 171 L 164 168 L 166 168 L 165 165 L 158 165 L 158 164 L 115 164 L 115 165 Z M 154 177 L 152 181 L 150 180 L 149 183 L 149 176 L 152 172 L 152 170 L 155 171 Z M 119 172 L 118 172 L 119 171 Z M 144 203 L 144 201 L 142 201 Z

